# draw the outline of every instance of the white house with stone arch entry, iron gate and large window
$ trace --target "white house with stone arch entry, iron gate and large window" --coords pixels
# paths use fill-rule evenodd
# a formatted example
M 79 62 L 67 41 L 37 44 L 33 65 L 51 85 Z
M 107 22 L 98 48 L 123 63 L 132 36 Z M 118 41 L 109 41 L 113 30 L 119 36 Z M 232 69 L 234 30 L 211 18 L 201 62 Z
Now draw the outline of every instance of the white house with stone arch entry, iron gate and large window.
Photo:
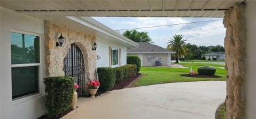
M 0 10 L 0 118 L 45 114 L 45 77 L 74 76 L 78 95 L 85 95 L 85 83 L 96 78 L 97 67 L 125 65 L 127 46 L 139 45 L 93 18 L 47 14 L 35 18 Z M 56 46 L 60 35 L 64 43 Z

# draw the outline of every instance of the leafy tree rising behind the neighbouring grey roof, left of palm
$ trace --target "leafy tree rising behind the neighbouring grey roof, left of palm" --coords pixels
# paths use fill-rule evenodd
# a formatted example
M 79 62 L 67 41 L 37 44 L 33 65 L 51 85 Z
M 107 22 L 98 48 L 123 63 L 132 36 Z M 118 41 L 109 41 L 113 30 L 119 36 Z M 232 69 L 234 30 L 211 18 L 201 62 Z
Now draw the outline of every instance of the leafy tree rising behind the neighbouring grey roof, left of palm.
M 148 36 L 148 32 L 140 32 L 136 29 L 125 31 L 123 36 L 135 42 L 152 42 L 152 39 Z

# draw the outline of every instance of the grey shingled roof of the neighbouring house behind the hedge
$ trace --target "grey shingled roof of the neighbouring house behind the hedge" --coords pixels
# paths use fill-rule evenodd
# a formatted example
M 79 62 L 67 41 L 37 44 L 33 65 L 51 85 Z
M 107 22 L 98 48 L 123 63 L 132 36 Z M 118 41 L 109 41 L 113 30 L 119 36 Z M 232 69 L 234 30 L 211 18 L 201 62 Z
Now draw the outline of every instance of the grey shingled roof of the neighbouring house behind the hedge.
M 175 53 L 171 50 L 167 50 L 160 46 L 150 44 L 148 42 L 137 42 L 139 46 L 137 48 L 133 48 L 131 50 L 127 50 L 127 54 L 135 54 L 135 53 Z

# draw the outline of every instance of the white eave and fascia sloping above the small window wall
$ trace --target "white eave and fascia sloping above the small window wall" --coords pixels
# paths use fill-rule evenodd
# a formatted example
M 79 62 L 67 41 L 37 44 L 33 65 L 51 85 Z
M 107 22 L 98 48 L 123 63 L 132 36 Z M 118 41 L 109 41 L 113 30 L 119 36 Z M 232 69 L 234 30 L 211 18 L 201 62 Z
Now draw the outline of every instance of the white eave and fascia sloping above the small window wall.
M 106 27 L 105 25 L 101 24 L 100 22 L 97 22 L 93 18 L 75 17 L 75 16 L 66 16 L 66 17 L 70 18 L 71 20 L 74 20 L 75 22 L 79 22 L 80 24 L 86 25 L 87 27 L 91 27 L 92 29 L 95 29 L 96 31 L 100 31 L 106 35 L 109 35 L 110 37 L 113 37 L 114 39 L 118 39 L 119 41 L 123 41 L 132 46 L 139 46 L 139 44 L 137 42 L 131 41 L 127 37 L 124 37 L 123 35 L 116 33 L 116 31 L 113 31 L 109 27 Z

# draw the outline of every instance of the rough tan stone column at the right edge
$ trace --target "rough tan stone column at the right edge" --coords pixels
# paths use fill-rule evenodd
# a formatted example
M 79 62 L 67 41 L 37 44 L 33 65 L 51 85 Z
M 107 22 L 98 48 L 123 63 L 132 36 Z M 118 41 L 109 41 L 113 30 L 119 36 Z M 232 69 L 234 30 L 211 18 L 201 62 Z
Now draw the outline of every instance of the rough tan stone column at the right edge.
M 226 37 L 226 115 L 225 118 L 245 118 L 245 12 L 244 4 L 237 3 L 225 12 Z

